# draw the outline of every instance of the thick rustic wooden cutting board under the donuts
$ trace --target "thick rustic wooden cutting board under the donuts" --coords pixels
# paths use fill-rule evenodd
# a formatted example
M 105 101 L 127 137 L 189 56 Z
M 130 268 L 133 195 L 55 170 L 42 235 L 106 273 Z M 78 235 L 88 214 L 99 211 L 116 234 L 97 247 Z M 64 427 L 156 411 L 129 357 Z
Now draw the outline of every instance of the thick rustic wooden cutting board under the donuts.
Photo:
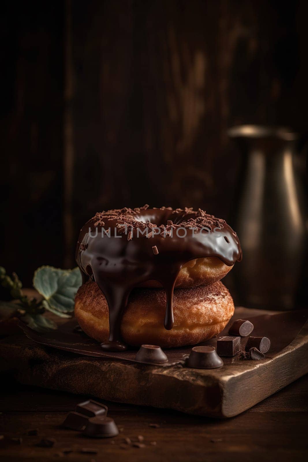
M 236 308 L 234 317 L 247 319 L 265 314 L 277 312 Z M 303 316 L 307 318 L 307 313 Z M 286 332 L 289 326 L 289 322 L 277 325 L 278 340 L 279 332 Z M 172 364 L 190 348 L 166 350 L 172 359 L 167 365 L 147 365 L 130 359 L 134 353 L 129 353 L 127 359 L 85 356 L 41 345 L 21 334 L 1 341 L 0 369 L 25 384 L 109 401 L 232 417 L 308 372 L 308 326 L 297 333 L 299 330 L 294 330 L 294 340 L 279 352 L 270 350 L 266 359 L 223 358 L 223 367 L 214 370 Z M 266 335 L 266 325 L 264 333 L 257 334 Z

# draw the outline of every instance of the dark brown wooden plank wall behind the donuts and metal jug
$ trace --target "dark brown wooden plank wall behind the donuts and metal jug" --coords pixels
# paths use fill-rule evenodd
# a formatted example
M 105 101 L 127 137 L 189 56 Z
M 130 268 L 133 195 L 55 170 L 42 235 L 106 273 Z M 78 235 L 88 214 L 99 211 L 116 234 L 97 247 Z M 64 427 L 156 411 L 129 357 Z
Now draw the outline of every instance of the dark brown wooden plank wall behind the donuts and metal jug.
M 228 218 L 237 123 L 307 131 L 308 2 L 4 1 L 0 265 L 74 265 L 115 207 Z

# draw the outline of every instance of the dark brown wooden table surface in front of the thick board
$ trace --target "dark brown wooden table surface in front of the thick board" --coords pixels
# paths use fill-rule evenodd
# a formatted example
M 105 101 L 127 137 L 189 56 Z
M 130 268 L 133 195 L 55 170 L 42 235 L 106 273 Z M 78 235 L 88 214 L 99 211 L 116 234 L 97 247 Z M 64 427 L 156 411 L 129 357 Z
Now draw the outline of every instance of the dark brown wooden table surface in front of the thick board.
M 109 415 L 121 428 L 115 438 L 85 438 L 79 432 L 61 428 L 66 413 L 87 396 L 7 383 L 1 394 L 1 461 L 100 462 L 185 461 L 229 462 L 307 460 L 308 376 L 260 402 L 232 419 L 215 420 L 166 409 L 105 402 Z M 152 428 L 150 424 L 158 424 Z M 38 428 L 37 436 L 26 436 Z M 125 438 L 144 437 L 145 447 L 127 445 Z M 21 437 L 22 444 L 11 441 Z M 53 448 L 36 444 L 41 438 L 55 438 Z M 63 454 L 64 448 L 72 450 Z M 97 454 L 85 454 L 92 448 Z

